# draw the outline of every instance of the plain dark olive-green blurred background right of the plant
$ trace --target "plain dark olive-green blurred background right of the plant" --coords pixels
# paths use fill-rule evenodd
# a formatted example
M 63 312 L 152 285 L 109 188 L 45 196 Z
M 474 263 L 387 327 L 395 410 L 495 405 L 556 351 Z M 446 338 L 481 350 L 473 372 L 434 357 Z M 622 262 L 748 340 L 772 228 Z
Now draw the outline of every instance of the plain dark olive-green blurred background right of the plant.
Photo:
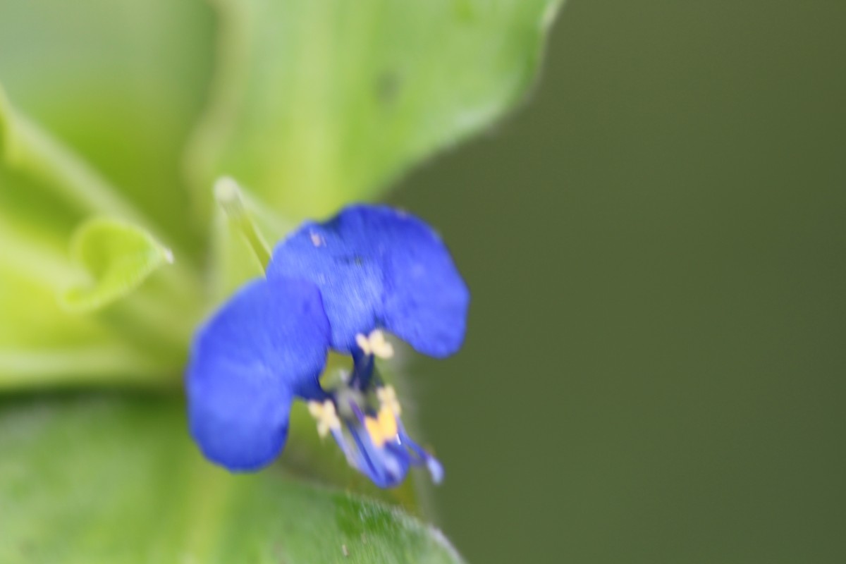
M 411 367 L 471 562 L 846 561 L 846 3 L 571 0 L 409 175 L 473 290 Z

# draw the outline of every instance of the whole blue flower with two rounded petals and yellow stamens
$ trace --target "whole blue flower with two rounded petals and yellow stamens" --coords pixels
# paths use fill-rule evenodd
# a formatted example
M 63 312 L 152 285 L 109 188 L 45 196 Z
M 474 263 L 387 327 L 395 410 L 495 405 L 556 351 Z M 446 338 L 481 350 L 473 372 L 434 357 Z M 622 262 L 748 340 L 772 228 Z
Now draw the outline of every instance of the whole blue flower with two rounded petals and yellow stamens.
M 470 293 L 431 227 L 386 206 L 353 205 L 305 222 L 273 250 L 266 277 L 235 293 L 195 335 L 187 375 L 190 432 L 204 455 L 253 471 L 283 450 L 295 398 L 321 436 L 380 487 L 409 468 L 443 470 L 406 432 L 376 357 L 393 356 L 383 331 L 443 358 L 464 341 Z M 352 357 L 332 389 L 327 353 Z

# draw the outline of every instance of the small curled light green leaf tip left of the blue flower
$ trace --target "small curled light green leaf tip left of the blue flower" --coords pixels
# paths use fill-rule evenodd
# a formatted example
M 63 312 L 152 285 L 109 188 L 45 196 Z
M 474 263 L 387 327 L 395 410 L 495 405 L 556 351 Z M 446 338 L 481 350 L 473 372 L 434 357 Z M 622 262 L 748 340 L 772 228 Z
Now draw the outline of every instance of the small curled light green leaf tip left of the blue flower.
M 60 298 L 64 308 L 85 313 L 101 309 L 139 287 L 173 253 L 149 233 L 124 222 L 94 218 L 81 225 L 70 244 L 71 257 L 88 274 Z

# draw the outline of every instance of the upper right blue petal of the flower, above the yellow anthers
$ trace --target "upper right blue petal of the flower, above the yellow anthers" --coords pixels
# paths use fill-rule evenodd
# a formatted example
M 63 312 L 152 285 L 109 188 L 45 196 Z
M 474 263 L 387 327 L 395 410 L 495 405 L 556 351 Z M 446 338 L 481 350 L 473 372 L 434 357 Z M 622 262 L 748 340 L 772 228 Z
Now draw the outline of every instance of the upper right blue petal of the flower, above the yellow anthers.
M 320 287 L 332 347 L 343 352 L 380 326 L 436 357 L 464 341 L 470 293 L 446 245 L 387 206 L 351 205 L 329 222 L 305 223 L 274 249 L 267 277 Z

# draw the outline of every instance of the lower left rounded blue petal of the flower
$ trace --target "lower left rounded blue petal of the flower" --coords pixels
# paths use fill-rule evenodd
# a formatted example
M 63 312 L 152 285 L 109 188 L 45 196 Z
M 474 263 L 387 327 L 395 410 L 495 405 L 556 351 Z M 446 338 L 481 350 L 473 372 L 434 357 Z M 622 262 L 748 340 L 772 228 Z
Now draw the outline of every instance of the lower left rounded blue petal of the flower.
M 203 454 L 236 471 L 271 463 L 285 444 L 294 396 L 322 394 L 328 342 L 313 284 L 262 279 L 241 288 L 191 348 L 190 431 Z

